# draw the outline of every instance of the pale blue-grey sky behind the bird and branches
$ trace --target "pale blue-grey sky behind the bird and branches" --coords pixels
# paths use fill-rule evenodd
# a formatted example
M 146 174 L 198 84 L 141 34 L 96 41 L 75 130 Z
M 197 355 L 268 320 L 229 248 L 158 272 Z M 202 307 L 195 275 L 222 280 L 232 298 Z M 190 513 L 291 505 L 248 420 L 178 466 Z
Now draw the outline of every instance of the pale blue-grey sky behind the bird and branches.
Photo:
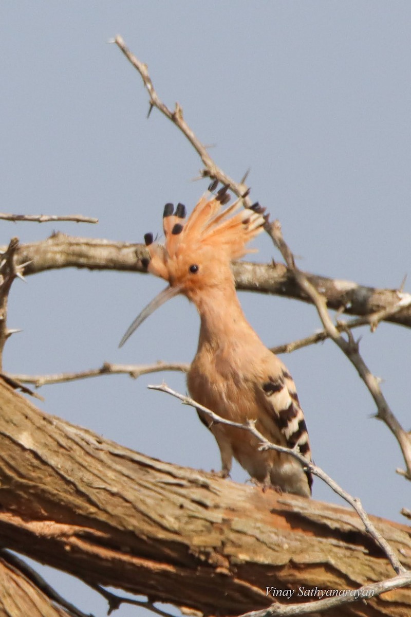
M 163 101 L 178 101 L 203 143 L 215 144 L 216 162 L 237 180 L 251 167 L 251 195 L 280 219 L 301 268 L 388 288 L 409 273 L 409 2 L 2 2 L 0 31 L 2 212 L 81 212 L 100 220 L 3 222 L 2 244 L 14 235 L 43 239 L 54 229 L 140 241 L 160 231 L 165 202 L 190 210 L 206 188 L 191 181 L 200 160 L 177 129 L 157 110 L 147 121 L 139 75 L 107 44 L 119 33 L 149 65 Z M 254 245 L 254 259 L 279 259 L 269 238 Z M 181 298 L 117 348 L 163 286 L 149 276 L 74 270 L 17 281 L 9 326 L 24 331 L 7 344 L 5 369 L 189 362 L 198 317 Z M 319 328 L 308 305 L 254 294 L 240 300 L 267 346 Z M 410 332 L 364 329 L 360 350 L 409 429 Z M 315 462 L 368 511 L 401 521 L 399 510 L 410 505 L 410 484 L 395 474 L 401 453 L 388 428 L 370 419 L 375 407 L 354 368 L 331 342 L 283 360 Z M 185 391 L 176 373 L 110 376 L 44 387 L 43 408 L 148 455 L 218 468 L 218 449 L 195 412 L 147 391 L 163 378 Z M 246 474 L 236 468 L 233 478 Z M 336 501 L 318 480 L 314 497 Z M 82 610 L 105 615 L 105 603 L 88 590 L 74 593 L 67 578 L 48 570 L 47 577 Z

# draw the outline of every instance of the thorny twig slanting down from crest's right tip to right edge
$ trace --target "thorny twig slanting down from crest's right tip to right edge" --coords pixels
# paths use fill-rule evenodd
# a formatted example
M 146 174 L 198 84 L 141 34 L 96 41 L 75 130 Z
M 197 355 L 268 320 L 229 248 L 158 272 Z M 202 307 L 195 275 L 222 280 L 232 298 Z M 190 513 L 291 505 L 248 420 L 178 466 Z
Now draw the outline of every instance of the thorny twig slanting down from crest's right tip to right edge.
M 279 221 L 274 221 L 274 223 L 267 224 L 266 229 L 274 241 L 274 244 L 278 247 L 280 253 L 282 254 L 288 268 L 293 271 L 297 283 L 317 308 L 320 320 L 322 321 L 322 325 L 324 326 L 325 331 L 327 331 L 328 336 L 333 339 L 336 345 L 338 345 L 346 357 L 348 357 L 352 365 L 355 366 L 360 378 L 367 386 L 368 391 L 372 395 L 376 404 L 377 413 L 375 417 L 378 418 L 378 420 L 383 420 L 394 434 L 394 437 L 396 437 L 397 442 L 401 447 L 401 452 L 407 468 L 404 475 L 407 479 L 411 480 L 411 438 L 409 434 L 404 431 L 396 416 L 394 416 L 394 413 L 389 408 L 388 402 L 381 392 L 378 379 L 369 370 L 359 353 L 358 342 L 354 341 L 354 338 L 349 330 L 346 331 L 346 334 L 348 335 L 348 341 L 346 341 L 346 339 L 341 336 L 338 328 L 336 328 L 333 324 L 327 310 L 327 300 L 317 291 L 317 289 L 315 289 L 314 285 L 307 279 L 307 276 L 296 267 L 294 256 L 283 239 Z M 401 303 L 402 302 L 403 300 L 401 300 Z

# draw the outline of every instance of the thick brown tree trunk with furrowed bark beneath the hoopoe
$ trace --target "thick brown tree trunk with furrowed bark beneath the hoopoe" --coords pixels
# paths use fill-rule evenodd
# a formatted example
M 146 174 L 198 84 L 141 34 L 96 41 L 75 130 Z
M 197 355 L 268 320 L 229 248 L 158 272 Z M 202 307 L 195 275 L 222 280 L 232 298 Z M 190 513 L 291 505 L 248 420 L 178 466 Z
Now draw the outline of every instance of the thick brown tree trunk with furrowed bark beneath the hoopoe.
M 393 576 L 346 508 L 145 457 L 46 415 L 2 382 L 0 448 L 1 545 L 89 584 L 238 615 L 269 606 L 276 598 L 267 587 L 307 602 L 300 587 L 356 589 Z M 409 528 L 373 521 L 410 567 Z M 2 563 L 0 576 L 1 609 L 7 594 L 28 587 L 16 586 L 16 571 Z M 332 614 L 405 617 L 411 589 Z

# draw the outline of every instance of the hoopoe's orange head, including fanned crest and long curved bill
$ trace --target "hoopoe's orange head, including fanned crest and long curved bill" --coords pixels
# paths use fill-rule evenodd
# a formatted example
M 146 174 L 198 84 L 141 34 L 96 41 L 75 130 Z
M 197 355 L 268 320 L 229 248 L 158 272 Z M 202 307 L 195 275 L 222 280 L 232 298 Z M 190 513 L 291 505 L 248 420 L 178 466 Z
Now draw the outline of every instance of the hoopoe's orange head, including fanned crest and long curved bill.
M 229 201 L 226 188 L 216 196 L 201 197 L 189 218 L 185 206 L 166 204 L 163 213 L 164 244 L 144 236 L 150 259 L 147 271 L 168 281 L 169 285 L 150 302 L 132 322 L 121 339 L 120 347 L 151 313 L 177 294 L 197 302 L 211 289 L 234 286 L 230 263 L 253 252 L 250 242 L 263 229 L 266 218 L 259 204 L 240 209 L 241 199 L 222 210 Z

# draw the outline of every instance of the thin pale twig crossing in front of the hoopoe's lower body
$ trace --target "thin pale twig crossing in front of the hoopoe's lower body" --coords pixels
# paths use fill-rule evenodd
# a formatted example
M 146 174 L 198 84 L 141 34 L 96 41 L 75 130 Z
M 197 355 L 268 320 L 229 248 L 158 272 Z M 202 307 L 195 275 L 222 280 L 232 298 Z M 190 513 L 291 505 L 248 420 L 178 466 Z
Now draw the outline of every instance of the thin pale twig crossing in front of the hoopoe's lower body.
M 201 410 L 202 412 L 205 412 L 208 416 L 210 416 L 214 424 L 224 424 L 225 426 L 233 426 L 235 428 L 240 428 L 245 431 L 248 431 L 261 442 L 260 449 L 262 450 L 275 450 L 276 452 L 283 452 L 286 454 L 290 454 L 291 456 L 296 458 L 301 463 L 301 465 L 303 465 L 304 468 L 306 468 L 308 471 L 311 471 L 311 473 L 313 473 L 318 478 L 322 479 L 322 481 L 328 484 L 328 486 L 337 495 L 340 495 L 340 497 L 342 497 L 344 501 L 348 502 L 349 505 L 351 505 L 351 507 L 354 508 L 354 510 L 359 515 L 362 523 L 364 524 L 365 531 L 367 531 L 367 533 L 371 537 L 373 537 L 376 544 L 378 544 L 381 550 L 383 550 L 389 562 L 393 566 L 394 571 L 396 571 L 397 574 L 404 574 L 405 572 L 407 572 L 407 569 L 401 565 L 400 561 L 398 560 L 396 554 L 394 553 L 394 550 L 391 548 L 389 543 L 383 538 L 383 536 L 381 536 L 380 532 L 375 528 L 375 525 L 372 523 L 367 513 L 365 512 L 364 508 L 362 507 L 362 503 L 360 502 L 360 500 L 357 497 L 352 497 L 352 495 L 344 491 L 344 489 L 342 489 L 339 486 L 339 484 L 337 484 L 332 478 L 330 478 L 330 476 L 328 476 L 328 474 L 325 473 L 325 471 L 323 471 L 320 467 L 317 467 L 317 465 L 314 465 L 314 463 L 308 462 L 307 459 L 302 454 L 300 454 L 297 450 L 286 448 L 282 445 L 272 444 L 270 441 L 268 441 L 268 439 L 266 439 L 266 437 L 264 437 L 264 435 L 262 435 L 255 428 L 254 421 L 250 420 L 248 424 L 239 424 L 238 422 L 234 422 L 231 420 L 226 420 L 225 418 L 221 418 L 221 416 L 212 412 L 207 407 L 200 405 L 199 403 L 197 403 L 195 400 L 191 399 L 190 397 L 185 396 L 184 394 L 179 394 L 179 392 L 174 391 L 173 389 L 168 387 L 167 384 L 165 383 L 160 384 L 158 386 L 147 386 L 147 387 L 149 387 L 150 390 L 158 390 L 160 392 L 166 392 L 166 394 L 171 394 L 172 396 L 176 397 L 176 399 L 181 400 L 184 405 L 190 405 L 190 407 L 194 407 L 196 409 Z

